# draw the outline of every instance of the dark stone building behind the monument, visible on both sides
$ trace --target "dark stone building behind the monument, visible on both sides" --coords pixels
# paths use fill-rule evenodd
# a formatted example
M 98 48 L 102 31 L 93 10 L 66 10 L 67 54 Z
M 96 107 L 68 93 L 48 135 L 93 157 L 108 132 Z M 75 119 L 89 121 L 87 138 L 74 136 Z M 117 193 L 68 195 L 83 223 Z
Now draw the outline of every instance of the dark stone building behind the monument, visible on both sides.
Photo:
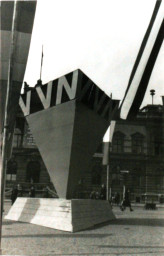
M 107 180 L 102 165 L 103 145 L 93 156 L 90 172 L 84 175 L 75 191 L 75 198 L 88 198 L 99 191 Z M 164 194 L 164 107 L 147 105 L 131 121 L 119 120 L 109 153 L 110 195 L 122 194 L 123 185 L 131 190 L 134 200 L 143 195 Z M 49 174 L 35 145 L 21 111 L 16 119 L 12 159 L 8 163 L 6 187 L 19 183 L 26 189 L 34 183 L 38 190 L 51 184 Z

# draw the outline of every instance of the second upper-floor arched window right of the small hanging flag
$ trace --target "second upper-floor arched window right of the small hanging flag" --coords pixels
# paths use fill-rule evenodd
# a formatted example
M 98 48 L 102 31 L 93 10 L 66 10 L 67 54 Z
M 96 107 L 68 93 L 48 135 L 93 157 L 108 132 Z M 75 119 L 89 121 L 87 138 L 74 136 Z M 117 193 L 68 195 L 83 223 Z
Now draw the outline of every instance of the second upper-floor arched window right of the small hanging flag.
M 141 133 L 135 133 L 132 136 L 132 153 L 140 154 L 144 152 L 144 136 Z

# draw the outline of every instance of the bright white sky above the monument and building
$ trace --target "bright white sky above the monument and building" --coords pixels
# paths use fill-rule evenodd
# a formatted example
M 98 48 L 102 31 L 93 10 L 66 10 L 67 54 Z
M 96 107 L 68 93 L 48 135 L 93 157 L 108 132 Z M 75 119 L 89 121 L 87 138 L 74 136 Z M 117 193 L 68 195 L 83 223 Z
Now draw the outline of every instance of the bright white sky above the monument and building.
M 25 81 L 47 83 L 80 68 L 108 95 L 122 99 L 155 0 L 38 0 Z M 142 104 L 164 95 L 164 46 Z

